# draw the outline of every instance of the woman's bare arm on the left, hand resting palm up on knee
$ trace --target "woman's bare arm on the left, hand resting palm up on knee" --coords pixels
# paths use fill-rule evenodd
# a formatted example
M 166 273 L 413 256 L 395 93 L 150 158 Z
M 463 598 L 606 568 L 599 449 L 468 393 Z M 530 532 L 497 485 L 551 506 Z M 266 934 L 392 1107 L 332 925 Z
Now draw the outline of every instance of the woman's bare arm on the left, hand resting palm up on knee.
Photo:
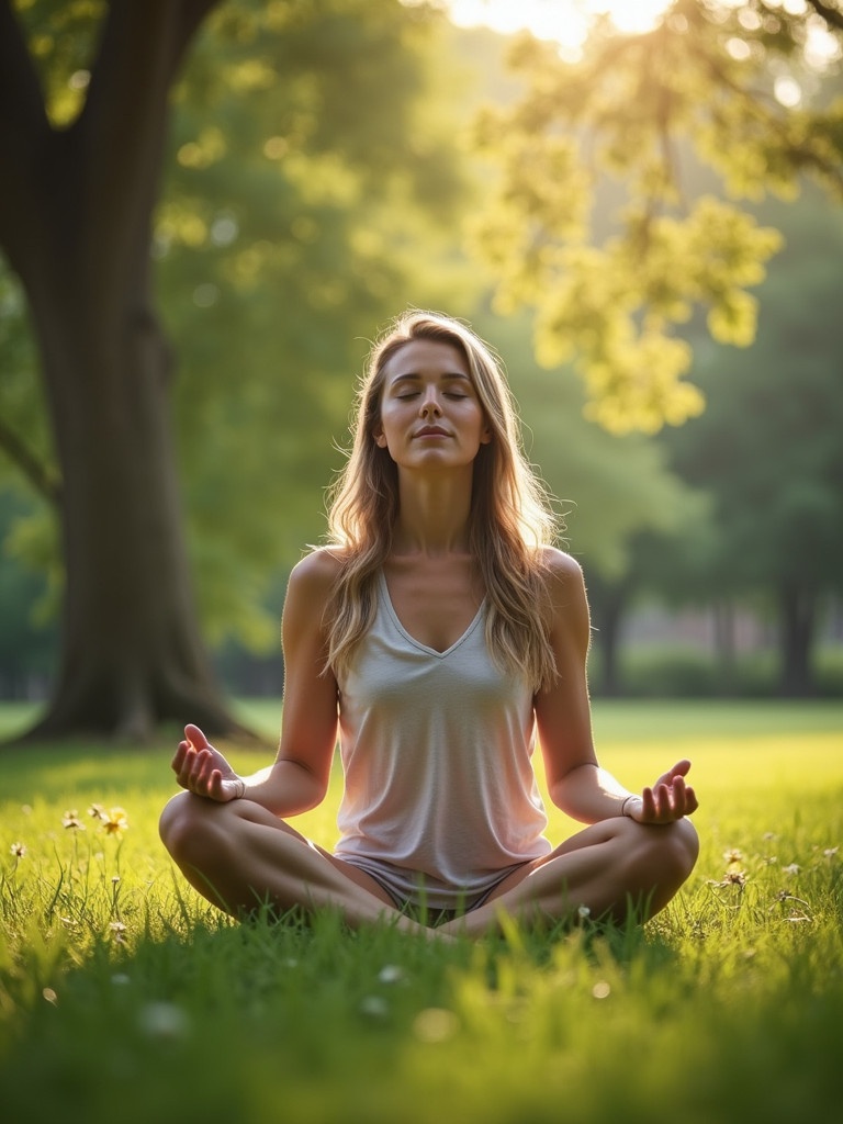
M 321 803 L 337 735 L 336 680 L 323 674 L 323 615 L 336 565 L 320 551 L 290 575 L 282 629 L 284 709 L 274 764 L 239 777 L 199 727 L 188 726 L 173 758 L 182 788 L 221 803 L 245 796 L 281 817 Z

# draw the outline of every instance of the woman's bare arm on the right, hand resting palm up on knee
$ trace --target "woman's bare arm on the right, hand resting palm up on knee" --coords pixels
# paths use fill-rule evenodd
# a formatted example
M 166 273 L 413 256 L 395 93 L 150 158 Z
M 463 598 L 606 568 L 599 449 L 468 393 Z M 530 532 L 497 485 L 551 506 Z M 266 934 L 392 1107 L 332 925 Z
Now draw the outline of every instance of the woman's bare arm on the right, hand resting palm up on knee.
M 553 552 L 550 579 L 551 642 L 559 672 L 535 700 L 538 737 L 551 799 L 566 815 L 593 824 L 627 815 L 640 823 L 671 823 L 697 807 L 686 785 L 689 761 L 680 761 L 637 796 L 597 760 L 586 679 L 590 623 L 586 587 L 577 562 Z

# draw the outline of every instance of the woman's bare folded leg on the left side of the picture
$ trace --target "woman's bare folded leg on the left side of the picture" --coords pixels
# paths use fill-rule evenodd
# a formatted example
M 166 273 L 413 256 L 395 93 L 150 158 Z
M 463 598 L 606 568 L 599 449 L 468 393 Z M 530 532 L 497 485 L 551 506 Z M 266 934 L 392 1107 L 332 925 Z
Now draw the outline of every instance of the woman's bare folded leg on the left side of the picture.
M 238 916 L 269 903 L 305 913 L 333 906 L 357 926 L 388 921 L 402 932 L 433 935 L 396 909 L 364 871 L 315 846 L 252 800 L 212 800 L 180 792 L 161 816 L 161 839 L 188 881 Z

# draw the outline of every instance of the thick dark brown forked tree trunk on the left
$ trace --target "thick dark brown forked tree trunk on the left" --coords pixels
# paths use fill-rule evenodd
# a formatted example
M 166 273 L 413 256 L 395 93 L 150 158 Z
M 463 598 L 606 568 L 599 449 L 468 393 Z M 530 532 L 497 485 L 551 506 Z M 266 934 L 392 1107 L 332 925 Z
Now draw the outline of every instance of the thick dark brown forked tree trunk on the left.
M 148 254 L 169 91 L 215 2 L 114 0 L 64 133 L 0 2 L 0 243 L 28 294 L 62 474 L 61 668 L 30 737 L 241 731 L 200 640 Z

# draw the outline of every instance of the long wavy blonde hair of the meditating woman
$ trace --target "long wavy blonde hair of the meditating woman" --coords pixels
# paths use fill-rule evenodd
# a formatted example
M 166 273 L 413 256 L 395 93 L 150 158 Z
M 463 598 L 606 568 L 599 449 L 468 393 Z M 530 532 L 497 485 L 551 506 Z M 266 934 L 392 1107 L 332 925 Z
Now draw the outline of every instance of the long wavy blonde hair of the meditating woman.
M 474 460 L 469 515 L 469 549 L 487 598 L 487 643 L 499 667 L 525 674 L 538 690 L 550 686 L 556 670 L 543 561 L 543 547 L 555 537 L 555 519 L 524 455 L 502 364 L 470 328 L 436 312 L 405 312 L 389 325 L 370 353 L 357 390 L 354 441 L 328 507 L 328 545 L 343 561 L 328 605 L 328 665 L 335 673 L 347 668 L 374 618 L 375 581 L 398 515 L 398 469 L 374 433 L 387 363 L 414 339 L 448 344 L 468 363 L 492 435 Z

